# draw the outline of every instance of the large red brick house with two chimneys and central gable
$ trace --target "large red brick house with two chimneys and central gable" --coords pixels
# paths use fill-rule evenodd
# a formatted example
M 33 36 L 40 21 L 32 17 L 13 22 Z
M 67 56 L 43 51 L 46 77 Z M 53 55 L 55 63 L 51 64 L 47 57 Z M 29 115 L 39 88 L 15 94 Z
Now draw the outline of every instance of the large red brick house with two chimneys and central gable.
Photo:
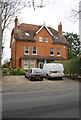
M 68 59 L 68 42 L 62 35 L 62 24 L 58 31 L 45 24 L 18 25 L 15 18 L 15 27 L 11 33 L 11 67 L 28 69 L 40 67 L 43 63 L 54 60 Z

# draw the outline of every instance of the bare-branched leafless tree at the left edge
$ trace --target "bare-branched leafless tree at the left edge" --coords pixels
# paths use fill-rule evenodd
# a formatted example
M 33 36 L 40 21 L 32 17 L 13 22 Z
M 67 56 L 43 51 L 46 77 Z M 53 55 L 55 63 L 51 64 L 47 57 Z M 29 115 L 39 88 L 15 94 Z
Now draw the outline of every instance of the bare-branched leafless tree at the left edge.
M 52 1 L 54 2 L 54 1 Z M 21 13 L 25 7 L 42 8 L 49 4 L 49 0 L 0 0 L 0 57 L 2 56 L 2 41 L 5 36 L 5 29 L 8 29 L 14 17 Z M 1 58 L 0 58 L 1 62 Z M 0 63 L 1 66 L 1 63 Z

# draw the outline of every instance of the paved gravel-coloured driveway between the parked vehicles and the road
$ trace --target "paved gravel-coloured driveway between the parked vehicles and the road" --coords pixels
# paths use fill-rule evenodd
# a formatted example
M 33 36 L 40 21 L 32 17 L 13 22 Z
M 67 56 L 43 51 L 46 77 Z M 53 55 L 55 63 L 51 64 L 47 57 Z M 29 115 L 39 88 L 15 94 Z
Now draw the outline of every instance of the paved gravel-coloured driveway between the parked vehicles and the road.
M 42 92 L 42 91 L 64 91 L 78 89 L 79 82 L 63 78 L 63 80 L 29 81 L 24 76 L 3 76 L 3 93 Z

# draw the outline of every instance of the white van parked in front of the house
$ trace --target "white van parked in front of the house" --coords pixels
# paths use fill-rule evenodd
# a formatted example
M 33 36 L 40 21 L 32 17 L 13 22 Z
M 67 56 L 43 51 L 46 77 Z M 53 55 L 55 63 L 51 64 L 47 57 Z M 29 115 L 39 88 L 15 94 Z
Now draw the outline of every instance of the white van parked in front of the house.
M 47 79 L 62 79 L 64 76 L 64 67 L 61 63 L 46 63 L 43 66 L 43 74 Z

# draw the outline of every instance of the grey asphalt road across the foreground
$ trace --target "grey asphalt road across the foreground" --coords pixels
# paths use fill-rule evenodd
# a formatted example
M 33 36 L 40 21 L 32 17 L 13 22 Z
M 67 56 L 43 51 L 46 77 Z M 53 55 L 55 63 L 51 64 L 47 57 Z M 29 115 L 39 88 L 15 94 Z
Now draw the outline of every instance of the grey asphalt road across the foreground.
M 79 118 L 79 89 L 3 94 L 3 118 Z

